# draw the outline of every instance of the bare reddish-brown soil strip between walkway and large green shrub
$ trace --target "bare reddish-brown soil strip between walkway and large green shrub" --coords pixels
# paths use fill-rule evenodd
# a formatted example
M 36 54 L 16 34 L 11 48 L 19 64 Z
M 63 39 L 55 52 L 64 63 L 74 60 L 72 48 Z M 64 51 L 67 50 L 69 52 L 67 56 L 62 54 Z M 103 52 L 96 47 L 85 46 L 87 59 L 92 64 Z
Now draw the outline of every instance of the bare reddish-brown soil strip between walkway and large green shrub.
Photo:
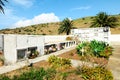
M 73 49 L 73 50 L 63 53 L 63 54 L 60 54 L 60 55 L 58 55 L 58 57 L 93 62 L 93 63 L 97 63 L 100 66 L 107 66 L 107 64 L 108 64 L 108 60 L 105 58 L 97 58 L 97 57 L 93 57 L 93 56 L 83 56 L 82 57 L 77 54 L 76 49 Z

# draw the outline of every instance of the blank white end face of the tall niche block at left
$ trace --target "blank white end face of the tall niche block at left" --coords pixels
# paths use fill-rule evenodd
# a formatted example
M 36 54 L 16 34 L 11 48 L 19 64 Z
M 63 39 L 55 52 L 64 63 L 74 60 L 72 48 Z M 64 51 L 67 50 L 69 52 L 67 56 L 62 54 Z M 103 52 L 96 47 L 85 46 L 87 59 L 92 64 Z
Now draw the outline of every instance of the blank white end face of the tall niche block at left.
M 5 63 L 13 64 L 17 61 L 16 36 L 4 35 L 4 57 Z

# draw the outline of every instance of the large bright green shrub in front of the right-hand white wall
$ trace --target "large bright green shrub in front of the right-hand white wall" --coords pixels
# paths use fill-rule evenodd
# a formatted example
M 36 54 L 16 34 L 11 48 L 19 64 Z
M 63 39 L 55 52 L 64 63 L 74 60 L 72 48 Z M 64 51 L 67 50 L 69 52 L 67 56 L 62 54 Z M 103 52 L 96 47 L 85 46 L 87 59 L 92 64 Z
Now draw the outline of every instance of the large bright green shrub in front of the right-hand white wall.
M 91 42 L 83 42 L 77 47 L 77 53 L 82 56 L 96 56 L 109 58 L 112 55 L 113 48 L 106 42 L 93 40 Z

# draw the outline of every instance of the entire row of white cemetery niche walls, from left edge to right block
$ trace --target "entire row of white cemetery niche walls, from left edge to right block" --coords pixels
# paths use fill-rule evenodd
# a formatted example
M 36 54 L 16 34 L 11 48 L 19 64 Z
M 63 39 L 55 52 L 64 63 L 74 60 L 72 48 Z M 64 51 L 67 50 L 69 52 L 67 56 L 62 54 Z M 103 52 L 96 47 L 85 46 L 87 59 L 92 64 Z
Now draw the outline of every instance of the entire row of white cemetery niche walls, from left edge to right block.
M 65 48 L 75 46 L 77 40 L 99 40 L 109 42 L 109 28 L 72 29 L 71 35 L 0 35 L 0 52 L 5 64 L 14 64 L 21 60 L 47 55 Z M 77 38 L 77 39 L 76 39 Z

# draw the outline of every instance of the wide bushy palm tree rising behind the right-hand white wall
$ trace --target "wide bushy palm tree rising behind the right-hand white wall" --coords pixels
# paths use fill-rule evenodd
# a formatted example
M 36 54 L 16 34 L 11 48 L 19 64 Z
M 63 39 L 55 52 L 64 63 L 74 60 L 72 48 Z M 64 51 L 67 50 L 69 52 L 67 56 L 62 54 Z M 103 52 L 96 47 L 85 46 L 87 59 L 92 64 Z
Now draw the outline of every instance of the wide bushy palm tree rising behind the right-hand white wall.
M 115 27 L 117 21 L 116 17 L 110 17 L 105 12 L 100 12 L 93 19 L 90 27 Z

